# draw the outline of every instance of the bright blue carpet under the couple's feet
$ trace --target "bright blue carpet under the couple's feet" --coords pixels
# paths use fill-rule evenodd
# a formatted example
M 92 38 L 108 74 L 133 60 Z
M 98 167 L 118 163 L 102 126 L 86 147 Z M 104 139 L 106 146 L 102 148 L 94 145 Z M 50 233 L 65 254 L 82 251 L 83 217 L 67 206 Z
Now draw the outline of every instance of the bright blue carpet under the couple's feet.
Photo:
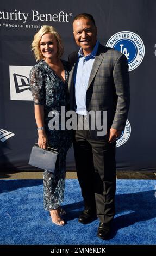
M 67 224 L 52 224 L 43 209 L 42 180 L 0 180 L 0 243 L 8 245 L 153 245 L 156 243 L 155 180 L 117 180 L 116 215 L 110 240 L 96 236 L 98 220 L 78 223 L 83 209 L 76 179 L 66 180 Z

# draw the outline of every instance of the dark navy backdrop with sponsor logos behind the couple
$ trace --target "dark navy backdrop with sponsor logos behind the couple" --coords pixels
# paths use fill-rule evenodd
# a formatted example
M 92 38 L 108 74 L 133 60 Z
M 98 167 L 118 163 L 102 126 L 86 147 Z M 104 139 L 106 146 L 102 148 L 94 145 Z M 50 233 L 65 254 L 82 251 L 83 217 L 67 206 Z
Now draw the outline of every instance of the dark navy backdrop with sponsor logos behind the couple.
M 72 21 L 95 17 L 98 40 L 126 55 L 131 104 L 125 130 L 116 142 L 118 170 L 155 170 L 156 2 L 153 0 L 1 1 L 0 6 L 0 168 L 35 170 L 28 165 L 37 141 L 29 72 L 36 64 L 30 44 L 42 25 L 61 34 L 65 53 L 77 50 Z M 67 170 L 74 170 L 73 148 Z

